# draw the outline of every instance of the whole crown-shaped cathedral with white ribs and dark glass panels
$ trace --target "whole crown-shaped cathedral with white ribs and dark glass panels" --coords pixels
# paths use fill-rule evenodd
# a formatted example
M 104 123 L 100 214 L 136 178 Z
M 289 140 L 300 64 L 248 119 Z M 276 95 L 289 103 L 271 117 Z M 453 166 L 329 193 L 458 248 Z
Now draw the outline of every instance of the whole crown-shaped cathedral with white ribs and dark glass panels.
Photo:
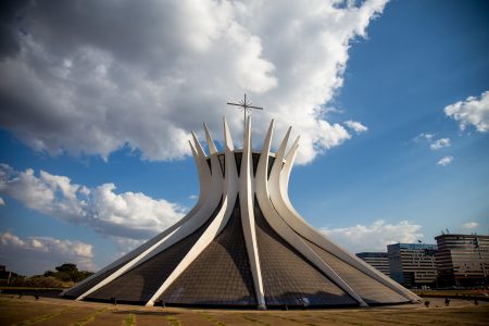
M 261 152 L 242 150 L 224 118 L 224 149 L 204 125 L 209 154 L 190 148 L 200 197 L 178 223 L 63 296 L 76 300 L 181 306 L 368 306 L 421 300 L 310 226 L 293 209 L 288 181 L 299 146 L 274 154 L 273 121 Z

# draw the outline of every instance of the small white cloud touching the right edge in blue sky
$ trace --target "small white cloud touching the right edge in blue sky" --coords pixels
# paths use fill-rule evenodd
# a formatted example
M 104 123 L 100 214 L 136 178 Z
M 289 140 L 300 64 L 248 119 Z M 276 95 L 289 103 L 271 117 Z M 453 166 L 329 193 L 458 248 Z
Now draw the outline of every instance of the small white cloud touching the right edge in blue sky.
M 465 101 L 450 104 L 443 111 L 459 122 L 462 130 L 473 125 L 477 131 L 485 133 L 489 130 L 489 90 L 479 98 L 468 97 Z

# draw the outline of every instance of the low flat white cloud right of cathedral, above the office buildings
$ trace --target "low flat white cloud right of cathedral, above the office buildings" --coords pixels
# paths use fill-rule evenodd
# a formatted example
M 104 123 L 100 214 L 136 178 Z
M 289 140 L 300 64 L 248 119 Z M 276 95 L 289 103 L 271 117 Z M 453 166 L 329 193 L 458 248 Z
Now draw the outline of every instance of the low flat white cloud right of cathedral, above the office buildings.
M 387 251 L 387 244 L 397 242 L 414 242 L 423 238 L 421 225 L 401 221 L 398 224 L 386 224 L 375 221 L 372 225 L 358 224 L 351 227 L 327 229 L 322 231 L 352 252 Z

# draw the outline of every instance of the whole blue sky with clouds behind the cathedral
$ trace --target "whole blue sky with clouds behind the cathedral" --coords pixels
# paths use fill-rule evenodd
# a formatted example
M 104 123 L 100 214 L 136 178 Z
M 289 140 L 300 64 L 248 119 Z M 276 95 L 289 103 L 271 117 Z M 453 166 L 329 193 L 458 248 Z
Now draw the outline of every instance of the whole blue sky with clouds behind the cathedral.
M 199 191 L 190 130 L 220 140 L 226 115 L 239 139 L 225 102 L 244 91 L 256 146 L 269 118 L 301 135 L 296 209 L 352 251 L 489 234 L 484 1 L 63 5 L 1 27 L 1 264 L 97 269 L 177 221 Z

